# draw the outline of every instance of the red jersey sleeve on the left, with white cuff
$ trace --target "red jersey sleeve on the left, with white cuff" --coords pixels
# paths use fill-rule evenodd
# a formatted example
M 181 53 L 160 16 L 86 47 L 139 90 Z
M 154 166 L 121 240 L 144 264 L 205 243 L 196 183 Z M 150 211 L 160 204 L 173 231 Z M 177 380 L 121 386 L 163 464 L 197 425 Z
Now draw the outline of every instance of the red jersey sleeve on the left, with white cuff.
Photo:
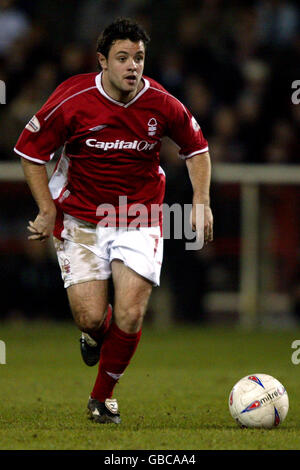
M 30 119 L 21 133 L 14 151 L 23 158 L 45 164 L 68 138 L 68 125 L 59 90 Z

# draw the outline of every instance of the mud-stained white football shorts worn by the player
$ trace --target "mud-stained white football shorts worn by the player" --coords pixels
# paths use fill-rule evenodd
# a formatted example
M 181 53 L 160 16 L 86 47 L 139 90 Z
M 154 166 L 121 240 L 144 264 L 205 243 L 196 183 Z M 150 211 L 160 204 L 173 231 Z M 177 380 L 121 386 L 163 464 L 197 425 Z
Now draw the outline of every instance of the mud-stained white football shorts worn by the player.
M 160 227 L 100 227 L 64 214 L 61 237 L 54 237 L 54 246 L 65 288 L 109 279 L 114 259 L 159 285 L 163 257 Z

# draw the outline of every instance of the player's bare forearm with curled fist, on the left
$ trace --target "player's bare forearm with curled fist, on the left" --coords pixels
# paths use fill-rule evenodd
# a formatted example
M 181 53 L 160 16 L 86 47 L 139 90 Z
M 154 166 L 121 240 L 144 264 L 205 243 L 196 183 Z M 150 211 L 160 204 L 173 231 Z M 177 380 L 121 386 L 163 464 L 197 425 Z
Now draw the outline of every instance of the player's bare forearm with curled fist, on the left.
M 29 221 L 29 240 L 45 241 L 53 232 L 56 207 L 48 187 L 48 175 L 45 165 L 22 158 L 22 167 L 27 184 L 39 208 L 34 221 Z

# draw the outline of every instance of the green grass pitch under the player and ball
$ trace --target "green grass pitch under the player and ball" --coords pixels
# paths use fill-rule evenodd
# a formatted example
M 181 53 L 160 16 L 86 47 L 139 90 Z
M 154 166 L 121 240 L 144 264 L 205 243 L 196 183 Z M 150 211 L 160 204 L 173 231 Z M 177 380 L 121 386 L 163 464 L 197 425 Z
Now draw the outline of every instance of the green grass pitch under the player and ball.
M 299 449 L 300 365 L 291 344 L 300 330 L 144 328 L 116 386 L 122 424 L 86 417 L 97 366 L 86 367 L 73 324 L 0 324 L 1 450 L 286 450 Z M 290 409 L 272 430 L 240 429 L 228 395 L 247 374 L 266 373 L 286 387 Z

